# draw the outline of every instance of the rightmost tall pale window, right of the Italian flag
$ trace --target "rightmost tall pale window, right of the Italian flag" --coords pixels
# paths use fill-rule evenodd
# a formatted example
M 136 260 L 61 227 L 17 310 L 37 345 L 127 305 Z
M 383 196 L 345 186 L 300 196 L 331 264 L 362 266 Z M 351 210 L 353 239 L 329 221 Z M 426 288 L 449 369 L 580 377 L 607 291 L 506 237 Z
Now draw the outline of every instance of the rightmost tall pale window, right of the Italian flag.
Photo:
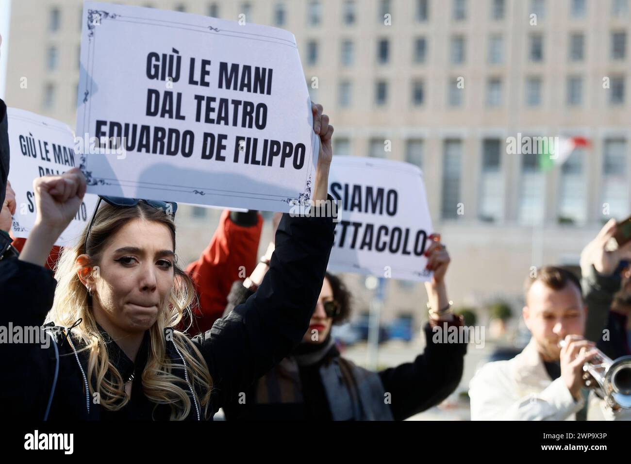
M 628 216 L 627 141 L 608 139 L 604 141 L 603 157 L 603 203 L 608 203 L 610 217 Z

